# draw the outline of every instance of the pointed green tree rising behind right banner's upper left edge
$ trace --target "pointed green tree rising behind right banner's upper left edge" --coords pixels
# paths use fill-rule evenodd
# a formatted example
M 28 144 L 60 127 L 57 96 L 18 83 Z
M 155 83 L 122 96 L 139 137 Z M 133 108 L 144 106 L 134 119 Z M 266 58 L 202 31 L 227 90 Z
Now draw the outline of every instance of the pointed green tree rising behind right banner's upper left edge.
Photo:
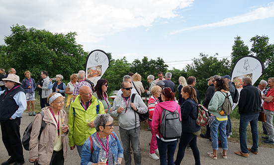
M 241 40 L 240 36 L 235 37 L 234 45 L 232 46 L 232 65 L 241 57 L 247 56 L 250 54 L 249 48 L 244 44 L 244 41 Z

